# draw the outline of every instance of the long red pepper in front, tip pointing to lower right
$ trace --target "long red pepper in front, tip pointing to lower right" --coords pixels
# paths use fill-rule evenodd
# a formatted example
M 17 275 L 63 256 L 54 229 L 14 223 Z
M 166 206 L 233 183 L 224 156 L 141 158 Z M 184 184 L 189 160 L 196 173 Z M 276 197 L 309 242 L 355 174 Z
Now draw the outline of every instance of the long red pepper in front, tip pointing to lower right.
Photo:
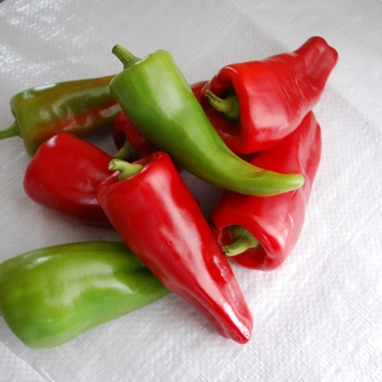
M 156 152 L 118 169 L 97 188 L 99 204 L 124 243 L 170 290 L 224 337 L 247 343 L 252 315 L 195 198 L 168 154 Z

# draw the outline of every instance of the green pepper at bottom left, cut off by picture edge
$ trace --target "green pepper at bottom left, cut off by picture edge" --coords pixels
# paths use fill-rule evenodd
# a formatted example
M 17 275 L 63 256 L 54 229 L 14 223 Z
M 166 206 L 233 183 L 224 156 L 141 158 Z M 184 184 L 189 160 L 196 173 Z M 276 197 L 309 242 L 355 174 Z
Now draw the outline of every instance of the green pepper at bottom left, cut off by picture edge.
M 122 242 L 47 247 L 0 264 L 0 313 L 36 349 L 64 344 L 167 294 Z

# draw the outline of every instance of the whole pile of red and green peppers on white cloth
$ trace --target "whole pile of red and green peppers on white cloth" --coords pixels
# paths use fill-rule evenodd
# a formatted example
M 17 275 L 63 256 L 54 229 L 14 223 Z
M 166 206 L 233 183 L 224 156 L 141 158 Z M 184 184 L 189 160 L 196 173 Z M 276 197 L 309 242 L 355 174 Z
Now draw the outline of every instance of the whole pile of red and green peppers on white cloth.
M 43 248 L 0 264 L 0 313 L 29 347 L 63 344 L 172 291 L 240 344 L 252 314 L 230 260 L 271 271 L 300 236 L 321 156 L 312 111 L 337 52 L 321 37 L 189 85 L 168 51 L 116 45 L 117 75 L 26 89 L 11 99 L 32 156 L 24 190 L 123 242 Z M 82 135 L 112 124 L 116 155 Z M 220 189 L 211 216 L 182 171 Z

